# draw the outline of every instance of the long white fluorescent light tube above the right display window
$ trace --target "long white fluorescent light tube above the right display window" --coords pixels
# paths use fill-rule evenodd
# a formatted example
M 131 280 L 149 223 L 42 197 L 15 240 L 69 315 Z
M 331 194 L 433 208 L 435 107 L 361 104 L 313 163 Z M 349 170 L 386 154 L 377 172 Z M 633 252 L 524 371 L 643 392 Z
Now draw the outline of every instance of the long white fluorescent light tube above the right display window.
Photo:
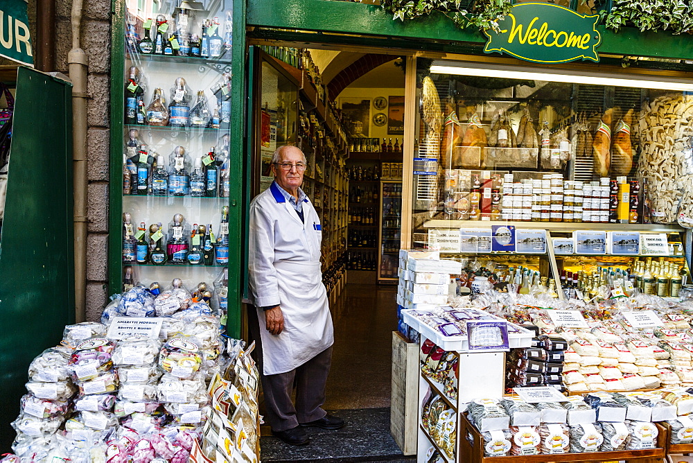
M 541 72 L 529 69 L 531 68 L 477 64 L 471 62 L 434 61 L 430 71 L 435 74 L 455 74 L 458 76 L 545 80 L 548 82 L 564 82 L 568 84 L 613 85 L 615 87 L 693 91 L 693 83 L 684 83 L 681 79 L 634 75 L 624 78 L 619 74 L 597 74 L 578 70 L 566 73 L 568 71 L 559 71 L 556 69 L 543 69 Z

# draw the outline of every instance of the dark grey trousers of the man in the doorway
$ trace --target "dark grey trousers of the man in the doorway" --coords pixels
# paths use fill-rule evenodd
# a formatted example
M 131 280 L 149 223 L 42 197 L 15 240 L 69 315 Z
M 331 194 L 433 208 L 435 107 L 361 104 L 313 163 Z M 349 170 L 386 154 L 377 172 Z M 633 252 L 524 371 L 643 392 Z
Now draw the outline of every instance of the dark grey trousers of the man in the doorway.
M 325 403 L 325 385 L 332 363 L 332 347 L 308 360 L 290 372 L 265 375 L 263 373 L 263 354 L 260 330 L 265 326 L 258 324 L 256 308 L 249 307 L 248 328 L 251 340 L 255 341 L 252 358 L 258 365 L 263 393 L 265 396 L 265 421 L 275 432 L 295 428 L 299 423 L 321 419 L 327 412 L 322 410 Z M 296 384 L 296 405 L 291 401 L 291 392 Z

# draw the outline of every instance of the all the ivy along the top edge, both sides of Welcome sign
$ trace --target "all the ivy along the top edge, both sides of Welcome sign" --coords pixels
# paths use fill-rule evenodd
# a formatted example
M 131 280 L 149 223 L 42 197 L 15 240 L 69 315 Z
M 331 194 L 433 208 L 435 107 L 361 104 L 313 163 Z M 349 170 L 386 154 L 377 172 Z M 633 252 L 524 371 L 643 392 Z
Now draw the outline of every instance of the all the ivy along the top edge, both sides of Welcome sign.
M 591 3 L 578 1 L 581 5 Z M 571 1 L 571 6 L 574 8 L 578 1 Z M 392 12 L 394 19 L 404 21 L 439 11 L 463 29 L 476 27 L 495 31 L 499 30 L 499 21 L 511 12 L 514 3 L 512 0 L 380 0 L 380 6 Z M 693 31 L 693 2 L 690 0 L 595 0 L 594 3 L 593 12 L 601 10 L 602 24 L 613 30 L 632 26 L 642 31 L 674 34 Z

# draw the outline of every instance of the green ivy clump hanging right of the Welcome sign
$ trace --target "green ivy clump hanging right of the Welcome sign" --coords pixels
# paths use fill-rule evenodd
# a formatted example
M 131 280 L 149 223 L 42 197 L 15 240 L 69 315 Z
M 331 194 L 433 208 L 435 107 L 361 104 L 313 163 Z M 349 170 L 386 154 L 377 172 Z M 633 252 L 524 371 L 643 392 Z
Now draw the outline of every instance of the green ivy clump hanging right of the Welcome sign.
M 613 30 L 623 26 L 637 27 L 643 32 L 668 30 L 674 34 L 693 30 L 690 0 L 613 0 L 611 11 L 604 10 L 601 15 L 606 27 Z

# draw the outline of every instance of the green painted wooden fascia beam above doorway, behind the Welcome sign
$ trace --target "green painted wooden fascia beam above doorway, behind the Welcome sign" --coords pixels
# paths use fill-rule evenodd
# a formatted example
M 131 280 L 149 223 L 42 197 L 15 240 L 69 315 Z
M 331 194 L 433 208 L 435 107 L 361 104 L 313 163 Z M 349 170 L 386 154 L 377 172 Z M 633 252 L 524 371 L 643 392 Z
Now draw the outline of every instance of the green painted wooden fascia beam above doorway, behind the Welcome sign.
M 372 46 L 387 46 L 394 39 L 442 41 L 449 45 L 476 45 L 486 39 L 479 30 L 462 30 L 440 12 L 408 21 L 393 20 L 379 6 L 326 0 L 247 0 L 247 25 L 264 28 L 309 30 L 317 33 L 368 35 Z M 693 59 L 690 35 L 641 33 L 635 28 L 622 28 L 615 33 L 598 26 L 602 34 L 599 53 L 656 58 Z M 315 35 L 313 35 L 315 36 Z M 320 43 L 330 40 L 327 34 L 315 37 Z M 417 45 L 418 47 L 421 44 Z

